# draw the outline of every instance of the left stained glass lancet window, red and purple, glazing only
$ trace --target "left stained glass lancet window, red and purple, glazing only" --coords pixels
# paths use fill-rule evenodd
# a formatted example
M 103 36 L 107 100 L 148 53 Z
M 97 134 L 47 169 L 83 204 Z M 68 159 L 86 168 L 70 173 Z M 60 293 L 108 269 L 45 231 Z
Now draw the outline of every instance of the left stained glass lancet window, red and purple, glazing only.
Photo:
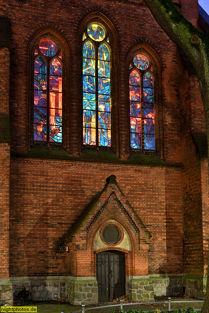
M 62 142 L 62 55 L 51 40 L 34 52 L 33 139 Z

